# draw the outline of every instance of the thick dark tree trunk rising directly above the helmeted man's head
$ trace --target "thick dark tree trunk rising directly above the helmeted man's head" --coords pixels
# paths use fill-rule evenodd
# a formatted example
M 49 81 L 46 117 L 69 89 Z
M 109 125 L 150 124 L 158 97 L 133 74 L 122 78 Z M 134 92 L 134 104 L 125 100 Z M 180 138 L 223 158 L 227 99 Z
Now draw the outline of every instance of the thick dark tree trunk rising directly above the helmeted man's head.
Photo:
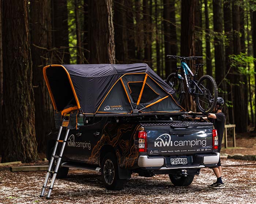
M 214 35 L 214 56 L 215 56 L 215 80 L 218 88 L 222 91 L 224 86 L 222 80 L 225 76 L 225 55 L 224 55 L 224 45 L 223 45 L 223 12 L 222 12 L 222 0 L 213 0 L 213 29 Z M 223 94 L 219 92 L 219 95 L 223 97 Z

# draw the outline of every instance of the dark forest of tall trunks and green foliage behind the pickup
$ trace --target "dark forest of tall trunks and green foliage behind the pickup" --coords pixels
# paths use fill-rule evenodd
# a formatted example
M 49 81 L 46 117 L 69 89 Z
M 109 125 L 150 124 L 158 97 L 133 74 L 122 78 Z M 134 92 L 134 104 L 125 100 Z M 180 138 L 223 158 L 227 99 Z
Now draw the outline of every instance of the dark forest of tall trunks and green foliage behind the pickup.
M 48 64 L 143 62 L 166 79 L 179 63 L 167 54 L 203 56 L 226 123 L 256 130 L 255 0 L 0 0 L 0 28 L 1 162 L 45 151 Z M 182 105 L 196 111 L 191 97 Z

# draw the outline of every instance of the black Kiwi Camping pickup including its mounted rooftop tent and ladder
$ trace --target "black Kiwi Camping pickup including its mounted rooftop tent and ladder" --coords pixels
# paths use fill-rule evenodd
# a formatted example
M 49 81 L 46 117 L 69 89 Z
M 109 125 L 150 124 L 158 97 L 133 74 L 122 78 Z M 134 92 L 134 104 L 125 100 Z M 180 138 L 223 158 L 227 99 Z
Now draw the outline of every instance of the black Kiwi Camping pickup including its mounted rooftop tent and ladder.
M 100 172 L 107 189 L 120 190 L 132 173 L 169 174 L 174 185 L 187 186 L 201 168 L 217 165 L 212 123 L 188 119 L 175 91 L 147 64 L 55 64 L 43 72 L 56 131 L 48 136 L 41 197 L 45 189 L 50 197 L 68 168 Z

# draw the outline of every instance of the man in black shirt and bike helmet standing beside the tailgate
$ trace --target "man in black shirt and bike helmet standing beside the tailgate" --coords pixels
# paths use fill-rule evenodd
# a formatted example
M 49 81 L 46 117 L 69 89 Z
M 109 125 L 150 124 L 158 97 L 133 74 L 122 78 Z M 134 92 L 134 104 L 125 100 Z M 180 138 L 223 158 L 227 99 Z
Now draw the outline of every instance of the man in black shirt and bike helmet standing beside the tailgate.
M 214 113 L 208 114 L 208 117 L 207 117 L 213 123 L 215 129 L 217 129 L 217 133 L 218 133 L 218 152 L 221 152 L 221 142 L 222 142 L 224 127 L 225 127 L 225 121 L 226 121 L 225 114 L 222 112 L 223 105 L 224 105 L 223 98 L 218 97 L 216 107 L 213 110 Z M 215 176 L 217 177 L 217 181 L 214 182 L 211 185 L 208 185 L 208 187 L 213 188 L 213 189 L 225 188 L 225 185 L 224 185 L 224 183 L 222 182 L 222 179 L 221 179 L 221 171 L 222 171 L 221 159 L 219 159 L 217 167 L 212 168 L 212 170 L 215 173 Z

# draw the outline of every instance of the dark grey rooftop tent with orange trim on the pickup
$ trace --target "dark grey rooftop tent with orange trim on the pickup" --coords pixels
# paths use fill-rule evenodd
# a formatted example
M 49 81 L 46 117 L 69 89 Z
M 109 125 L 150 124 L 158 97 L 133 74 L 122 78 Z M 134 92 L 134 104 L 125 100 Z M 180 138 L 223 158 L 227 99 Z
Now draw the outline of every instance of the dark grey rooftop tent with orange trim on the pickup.
M 54 109 L 83 114 L 180 112 L 174 90 L 147 64 L 73 64 L 44 67 Z

